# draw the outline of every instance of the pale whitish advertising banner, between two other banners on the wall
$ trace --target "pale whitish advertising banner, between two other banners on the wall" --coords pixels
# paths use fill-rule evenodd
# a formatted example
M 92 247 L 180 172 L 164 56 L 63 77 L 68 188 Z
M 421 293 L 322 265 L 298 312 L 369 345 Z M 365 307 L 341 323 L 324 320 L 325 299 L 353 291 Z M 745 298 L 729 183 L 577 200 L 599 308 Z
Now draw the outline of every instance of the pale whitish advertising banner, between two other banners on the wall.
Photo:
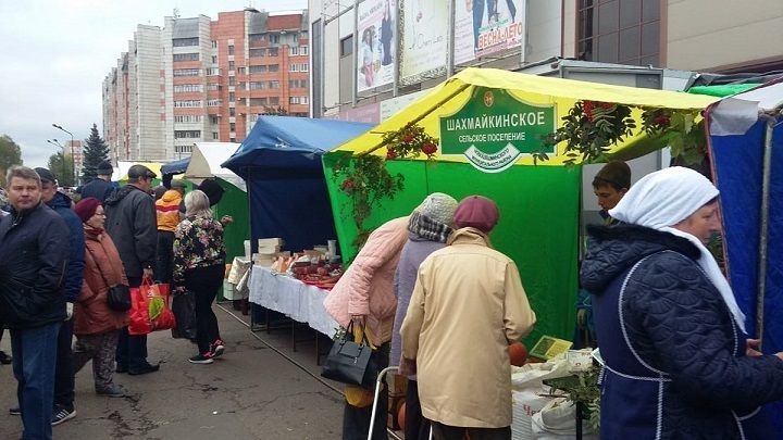
M 445 74 L 448 2 L 405 0 L 401 7 L 400 83 L 414 84 Z

